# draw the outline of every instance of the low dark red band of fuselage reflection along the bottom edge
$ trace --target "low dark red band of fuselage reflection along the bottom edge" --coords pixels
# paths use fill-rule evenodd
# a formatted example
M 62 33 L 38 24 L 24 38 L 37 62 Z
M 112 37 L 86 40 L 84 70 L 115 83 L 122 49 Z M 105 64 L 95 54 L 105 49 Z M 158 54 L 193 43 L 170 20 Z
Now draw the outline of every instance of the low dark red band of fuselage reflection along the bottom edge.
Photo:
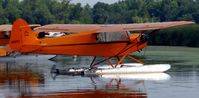
M 29 98 L 33 96 L 22 96 L 21 98 Z M 145 93 L 115 93 L 106 92 L 103 90 L 77 90 L 70 92 L 55 92 L 55 93 L 45 93 L 45 95 L 39 94 L 34 95 L 34 97 L 45 97 L 45 98 L 147 98 Z

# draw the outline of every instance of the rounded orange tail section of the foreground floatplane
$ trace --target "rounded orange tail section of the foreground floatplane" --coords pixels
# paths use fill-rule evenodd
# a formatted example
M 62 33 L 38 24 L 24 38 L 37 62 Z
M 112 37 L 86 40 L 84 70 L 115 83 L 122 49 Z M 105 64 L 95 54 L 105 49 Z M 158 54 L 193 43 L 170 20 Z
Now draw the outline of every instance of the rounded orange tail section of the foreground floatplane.
M 18 52 L 32 52 L 39 49 L 39 40 L 25 20 L 17 19 L 12 26 L 9 45 Z

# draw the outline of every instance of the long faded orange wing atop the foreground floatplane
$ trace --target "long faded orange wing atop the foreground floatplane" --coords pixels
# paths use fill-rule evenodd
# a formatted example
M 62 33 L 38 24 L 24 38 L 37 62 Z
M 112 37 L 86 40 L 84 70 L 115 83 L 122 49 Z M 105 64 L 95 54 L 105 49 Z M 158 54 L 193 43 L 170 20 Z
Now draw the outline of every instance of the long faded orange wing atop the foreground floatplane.
M 100 32 L 119 32 L 119 31 L 145 31 L 159 30 L 170 27 L 177 27 L 193 24 L 191 21 L 157 22 L 157 23 L 138 23 L 138 24 L 50 24 L 35 28 L 36 32 L 71 32 L 81 33 L 87 31 Z

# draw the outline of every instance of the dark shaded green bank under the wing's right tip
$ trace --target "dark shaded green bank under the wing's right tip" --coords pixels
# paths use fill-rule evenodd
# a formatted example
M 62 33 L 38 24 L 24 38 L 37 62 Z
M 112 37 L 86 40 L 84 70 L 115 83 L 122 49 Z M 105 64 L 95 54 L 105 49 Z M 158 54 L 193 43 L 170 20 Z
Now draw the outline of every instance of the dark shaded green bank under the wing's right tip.
M 188 25 L 161 30 L 151 36 L 152 45 L 199 47 L 199 25 Z

